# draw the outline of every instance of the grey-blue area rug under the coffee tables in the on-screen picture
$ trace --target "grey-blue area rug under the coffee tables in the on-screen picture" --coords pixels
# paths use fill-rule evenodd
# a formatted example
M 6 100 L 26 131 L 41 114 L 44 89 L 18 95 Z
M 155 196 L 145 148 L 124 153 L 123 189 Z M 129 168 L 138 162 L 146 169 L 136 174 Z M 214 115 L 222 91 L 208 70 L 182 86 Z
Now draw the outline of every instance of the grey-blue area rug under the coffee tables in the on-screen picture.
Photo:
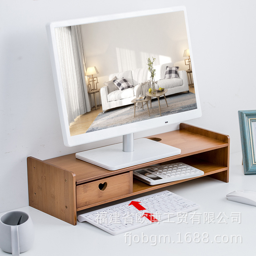
M 180 113 L 191 109 L 196 109 L 196 95 L 192 92 L 180 93 L 176 95 L 166 96 L 168 107 L 164 97 L 160 97 L 160 106 L 162 116 L 171 115 L 174 113 Z M 136 103 L 135 117 L 134 117 L 134 104 L 125 107 L 110 109 L 105 113 L 100 113 L 92 125 L 86 132 L 98 131 L 101 129 L 115 127 L 122 124 L 130 124 L 138 121 L 143 121 L 160 116 L 158 100 L 155 98 L 152 100 L 152 107 L 150 108 L 150 101 L 148 101 L 148 108 L 150 116 L 148 115 L 148 108 L 146 102 Z

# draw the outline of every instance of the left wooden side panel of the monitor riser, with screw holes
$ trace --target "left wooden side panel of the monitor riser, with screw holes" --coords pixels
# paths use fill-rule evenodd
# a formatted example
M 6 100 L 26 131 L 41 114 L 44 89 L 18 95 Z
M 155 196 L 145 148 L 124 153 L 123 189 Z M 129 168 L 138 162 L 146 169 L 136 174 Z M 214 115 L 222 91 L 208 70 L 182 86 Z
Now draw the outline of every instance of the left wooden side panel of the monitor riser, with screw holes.
M 27 158 L 29 206 L 76 225 L 75 174 Z

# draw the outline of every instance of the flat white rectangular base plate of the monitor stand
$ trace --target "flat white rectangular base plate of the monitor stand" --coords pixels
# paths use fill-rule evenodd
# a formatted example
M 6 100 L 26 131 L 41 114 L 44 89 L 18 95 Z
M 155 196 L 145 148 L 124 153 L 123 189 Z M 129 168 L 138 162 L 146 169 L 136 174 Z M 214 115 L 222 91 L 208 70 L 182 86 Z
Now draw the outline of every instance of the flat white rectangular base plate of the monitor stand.
M 115 171 L 181 153 L 179 148 L 146 138 L 134 140 L 133 143 L 132 152 L 124 152 L 123 143 L 117 143 L 76 153 L 76 158 Z

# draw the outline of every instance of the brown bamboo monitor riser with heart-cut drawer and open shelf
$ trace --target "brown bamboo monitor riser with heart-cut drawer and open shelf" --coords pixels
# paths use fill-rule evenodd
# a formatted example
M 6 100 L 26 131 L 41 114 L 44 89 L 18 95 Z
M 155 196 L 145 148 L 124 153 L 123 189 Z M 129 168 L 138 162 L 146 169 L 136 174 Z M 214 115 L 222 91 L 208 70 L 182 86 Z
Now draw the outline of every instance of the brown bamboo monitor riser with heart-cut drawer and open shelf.
M 28 157 L 29 205 L 76 225 L 76 212 L 187 180 L 150 186 L 132 178 L 132 171 L 151 164 L 184 162 L 204 171 L 204 176 L 228 182 L 228 135 L 189 124 L 180 130 L 155 135 L 159 143 L 181 149 L 181 154 L 116 171 L 76 159 L 75 154 L 48 160 Z

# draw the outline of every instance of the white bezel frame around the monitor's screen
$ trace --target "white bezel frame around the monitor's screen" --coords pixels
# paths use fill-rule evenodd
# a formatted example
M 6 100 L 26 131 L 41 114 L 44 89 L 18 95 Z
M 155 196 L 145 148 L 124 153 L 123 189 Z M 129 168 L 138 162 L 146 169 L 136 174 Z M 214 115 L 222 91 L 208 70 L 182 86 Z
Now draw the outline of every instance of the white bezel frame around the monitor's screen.
M 199 101 L 199 94 L 198 94 L 197 86 L 195 86 L 195 95 L 196 95 L 196 104 L 197 104 L 196 109 L 180 112 L 177 114 L 172 114 L 169 116 L 159 116 L 156 118 L 139 121 L 131 124 L 124 124 L 116 127 L 102 129 L 99 131 L 93 131 L 93 132 L 70 136 L 69 124 L 68 124 L 68 113 L 66 109 L 61 72 L 60 72 L 58 49 L 57 49 L 57 43 L 56 43 L 56 37 L 55 37 L 55 28 L 75 26 L 80 24 L 88 24 L 88 23 L 108 21 L 108 20 L 119 20 L 119 19 L 140 17 L 140 16 L 146 16 L 146 15 L 177 12 L 177 11 L 184 11 L 185 23 L 186 23 L 187 35 L 188 35 L 188 46 L 190 51 L 191 64 L 193 67 L 193 80 L 194 80 L 194 84 L 197 85 L 195 65 L 193 61 L 194 60 L 193 51 L 192 51 L 191 42 L 190 42 L 188 19 L 187 19 L 185 6 L 169 7 L 169 8 L 163 8 L 163 9 L 146 10 L 146 11 L 138 11 L 138 12 L 117 13 L 117 14 L 88 17 L 88 18 L 75 19 L 75 20 L 63 20 L 63 21 L 50 22 L 46 25 L 46 30 L 47 30 L 47 35 L 48 35 L 49 45 L 50 45 L 52 71 L 53 71 L 55 91 L 56 91 L 56 97 L 57 97 L 57 103 L 58 103 L 58 109 L 59 109 L 60 124 L 61 124 L 64 144 L 66 146 L 72 147 L 72 146 L 90 143 L 98 140 L 109 139 L 109 138 L 129 134 L 129 133 L 135 133 L 135 132 L 141 132 L 148 129 L 154 129 L 154 128 L 166 126 L 169 124 L 177 124 L 185 120 L 198 118 L 202 115 L 201 105 Z

